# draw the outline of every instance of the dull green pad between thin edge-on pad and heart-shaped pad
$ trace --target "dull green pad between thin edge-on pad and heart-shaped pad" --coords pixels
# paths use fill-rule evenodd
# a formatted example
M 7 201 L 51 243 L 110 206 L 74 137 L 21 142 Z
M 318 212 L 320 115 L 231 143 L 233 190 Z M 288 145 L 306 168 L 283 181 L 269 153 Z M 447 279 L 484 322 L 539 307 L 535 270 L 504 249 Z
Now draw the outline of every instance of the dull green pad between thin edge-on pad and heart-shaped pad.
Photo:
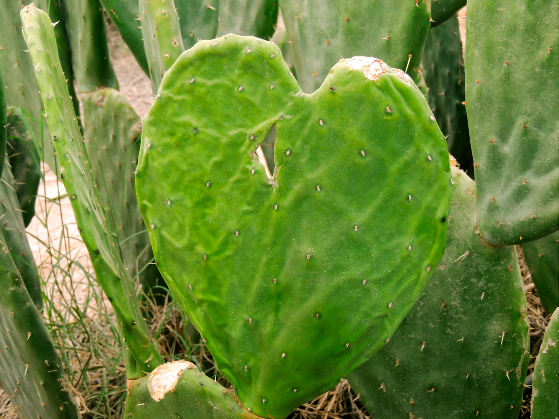
M 134 172 L 140 150 L 141 121 L 115 89 L 82 95 L 84 144 L 110 225 L 122 243 L 122 260 L 145 292 L 165 285 L 153 261 L 148 231 L 138 211 Z

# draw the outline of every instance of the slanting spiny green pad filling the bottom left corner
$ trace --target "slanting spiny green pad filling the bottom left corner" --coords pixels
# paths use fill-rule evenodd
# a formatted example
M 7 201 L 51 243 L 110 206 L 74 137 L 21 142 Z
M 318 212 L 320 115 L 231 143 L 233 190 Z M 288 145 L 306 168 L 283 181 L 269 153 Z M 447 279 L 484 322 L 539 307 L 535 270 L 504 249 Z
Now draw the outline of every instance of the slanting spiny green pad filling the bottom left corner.
M 0 287 L 0 384 L 22 418 L 77 419 L 72 387 L 2 230 Z

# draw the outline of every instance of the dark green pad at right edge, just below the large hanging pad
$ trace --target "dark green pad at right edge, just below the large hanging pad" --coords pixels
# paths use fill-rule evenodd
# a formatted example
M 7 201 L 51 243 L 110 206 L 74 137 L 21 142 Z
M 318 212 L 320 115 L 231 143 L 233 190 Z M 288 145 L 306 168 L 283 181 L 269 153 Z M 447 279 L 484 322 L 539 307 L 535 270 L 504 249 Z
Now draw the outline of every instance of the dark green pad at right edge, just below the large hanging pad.
M 522 245 L 524 258 L 546 312 L 559 306 L 559 232 Z

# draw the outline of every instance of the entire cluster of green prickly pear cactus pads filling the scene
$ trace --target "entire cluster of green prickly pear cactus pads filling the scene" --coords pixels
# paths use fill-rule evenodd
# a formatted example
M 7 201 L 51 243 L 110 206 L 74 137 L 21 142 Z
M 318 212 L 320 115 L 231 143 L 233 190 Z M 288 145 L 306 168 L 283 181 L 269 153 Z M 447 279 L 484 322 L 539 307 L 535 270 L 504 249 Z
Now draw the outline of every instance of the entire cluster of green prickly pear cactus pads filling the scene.
M 0 51 L 0 383 L 21 416 L 80 415 L 25 237 L 42 159 L 117 318 L 125 417 L 282 419 L 345 377 L 373 417 L 517 417 L 529 335 L 513 245 L 557 307 L 557 7 L 470 0 L 464 62 L 461 1 L 214 3 L 3 14 L 25 42 Z M 103 7 L 150 75 L 143 122 Z M 136 297 L 163 279 L 231 388 L 165 362 Z M 536 419 L 557 414 L 554 316 Z

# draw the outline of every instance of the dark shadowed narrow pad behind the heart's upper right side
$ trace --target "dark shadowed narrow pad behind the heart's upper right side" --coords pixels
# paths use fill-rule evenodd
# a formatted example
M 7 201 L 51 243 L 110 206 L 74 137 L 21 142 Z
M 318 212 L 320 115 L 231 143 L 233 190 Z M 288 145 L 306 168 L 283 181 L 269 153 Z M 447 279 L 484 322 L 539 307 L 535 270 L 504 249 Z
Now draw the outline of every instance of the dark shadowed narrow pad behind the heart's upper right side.
M 423 51 L 423 75 L 428 101 L 440 131 L 447 137 L 448 152 L 460 168 L 473 173 L 472 149 L 464 101 L 464 56 L 456 16 L 430 28 Z

